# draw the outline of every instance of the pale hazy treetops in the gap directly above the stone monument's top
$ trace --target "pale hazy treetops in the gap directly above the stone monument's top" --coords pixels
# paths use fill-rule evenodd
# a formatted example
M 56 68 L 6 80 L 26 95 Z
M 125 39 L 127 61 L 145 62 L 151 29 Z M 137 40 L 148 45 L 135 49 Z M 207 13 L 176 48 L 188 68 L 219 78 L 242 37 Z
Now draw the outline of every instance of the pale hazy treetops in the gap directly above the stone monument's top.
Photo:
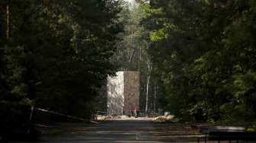
M 143 14 L 139 5 L 123 2 L 118 19 L 123 24 L 123 32 L 118 35 L 120 42 L 117 43 L 117 52 L 112 56 L 112 62 L 121 71 L 139 71 L 145 64 L 142 62 L 146 61 L 148 31 L 140 24 Z

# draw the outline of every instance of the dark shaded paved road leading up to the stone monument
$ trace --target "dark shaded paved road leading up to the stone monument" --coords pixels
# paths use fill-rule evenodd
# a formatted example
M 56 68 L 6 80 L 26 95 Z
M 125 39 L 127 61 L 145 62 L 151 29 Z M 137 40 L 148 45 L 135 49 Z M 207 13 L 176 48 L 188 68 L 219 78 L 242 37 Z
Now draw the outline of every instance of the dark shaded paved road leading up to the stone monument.
M 189 125 L 148 119 L 110 120 L 98 124 L 67 123 L 53 127 L 51 134 L 49 130 L 47 132 L 37 142 L 197 142 L 197 136 L 200 136 Z

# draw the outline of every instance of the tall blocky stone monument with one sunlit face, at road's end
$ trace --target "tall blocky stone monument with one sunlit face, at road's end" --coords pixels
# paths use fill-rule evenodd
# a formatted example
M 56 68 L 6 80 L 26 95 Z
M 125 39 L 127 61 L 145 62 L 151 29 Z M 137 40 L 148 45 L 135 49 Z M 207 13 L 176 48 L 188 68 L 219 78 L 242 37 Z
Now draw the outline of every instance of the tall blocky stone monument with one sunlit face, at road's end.
M 118 116 L 139 109 L 139 71 L 119 71 L 107 77 L 107 112 Z

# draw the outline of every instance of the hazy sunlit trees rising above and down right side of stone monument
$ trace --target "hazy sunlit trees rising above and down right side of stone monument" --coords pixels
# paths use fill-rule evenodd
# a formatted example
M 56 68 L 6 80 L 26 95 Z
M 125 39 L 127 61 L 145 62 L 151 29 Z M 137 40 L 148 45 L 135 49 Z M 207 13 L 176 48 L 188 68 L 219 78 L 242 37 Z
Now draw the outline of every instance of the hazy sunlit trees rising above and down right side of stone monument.
M 111 62 L 118 66 L 119 71 L 140 72 L 139 110 L 145 110 L 146 108 L 147 91 L 148 110 L 158 109 L 156 100 L 158 95 L 155 95 L 158 87 L 152 71 L 149 74 L 149 66 L 152 66 L 149 56 L 149 39 L 158 39 L 159 36 L 158 33 L 149 33 L 149 30 L 146 30 L 142 25 L 142 19 L 149 14 L 148 10 L 149 5 L 137 2 L 134 4 L 123 2 L 123 9 L 118 18 L 118 21 L 123 24 L 123 31 L 118 34 L 120 41 L 117 43 L 117 52 L 111 57 Z M 149 37 L 149 34 L 152 37 Z M 148 79 L 149 82 L 147 81 Z

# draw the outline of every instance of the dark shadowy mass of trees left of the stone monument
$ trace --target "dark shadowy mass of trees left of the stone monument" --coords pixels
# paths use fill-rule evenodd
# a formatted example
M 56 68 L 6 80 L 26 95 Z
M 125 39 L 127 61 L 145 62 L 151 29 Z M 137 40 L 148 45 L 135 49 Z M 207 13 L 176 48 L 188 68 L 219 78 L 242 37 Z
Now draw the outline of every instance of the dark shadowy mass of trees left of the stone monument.
M 116 71 L 110 56 L 122 30 L 120 2 L 0 4 L 0 102 L 89 118 L 105 78 Z

